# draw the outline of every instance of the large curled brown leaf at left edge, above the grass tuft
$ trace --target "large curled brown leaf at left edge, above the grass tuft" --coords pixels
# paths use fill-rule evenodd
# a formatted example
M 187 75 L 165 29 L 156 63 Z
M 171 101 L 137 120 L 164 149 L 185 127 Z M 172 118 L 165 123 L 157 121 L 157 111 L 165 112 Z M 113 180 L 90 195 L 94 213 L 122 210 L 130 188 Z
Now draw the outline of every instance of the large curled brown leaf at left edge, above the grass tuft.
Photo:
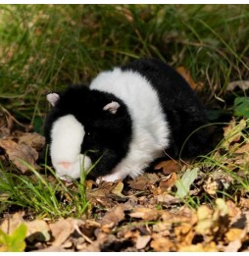
M 25 163 L 36 168 L 38 152 L 32 147 L 26 145 L 25 143 L 18 144 L 10 139 L 0 140 L 0 146 L 6 150 L 10 161 L 12 161 L 14 165 L 20 171 L 22 171 L 22 173 L 25 174 L 25 172 L 29 169 Z

